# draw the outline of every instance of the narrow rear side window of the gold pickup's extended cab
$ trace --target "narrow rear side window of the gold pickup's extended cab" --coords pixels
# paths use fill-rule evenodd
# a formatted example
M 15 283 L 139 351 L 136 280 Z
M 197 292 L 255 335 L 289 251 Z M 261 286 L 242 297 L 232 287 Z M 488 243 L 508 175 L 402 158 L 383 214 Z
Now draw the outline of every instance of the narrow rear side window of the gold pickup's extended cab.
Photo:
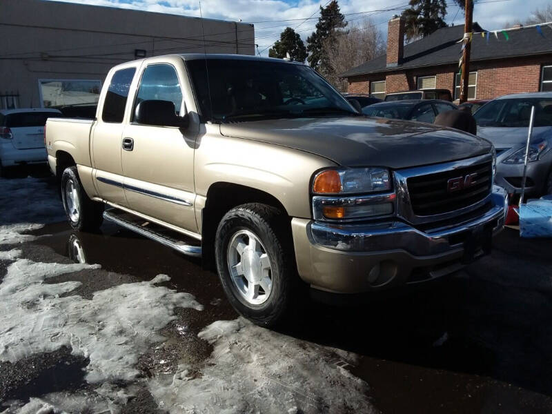
M 101 119 L 104 122 L 119 124 L 123 121 L 128 90 L 135 72 L 136 68 L 121 69 L 117 70 L 111 78 L 101 112 Z

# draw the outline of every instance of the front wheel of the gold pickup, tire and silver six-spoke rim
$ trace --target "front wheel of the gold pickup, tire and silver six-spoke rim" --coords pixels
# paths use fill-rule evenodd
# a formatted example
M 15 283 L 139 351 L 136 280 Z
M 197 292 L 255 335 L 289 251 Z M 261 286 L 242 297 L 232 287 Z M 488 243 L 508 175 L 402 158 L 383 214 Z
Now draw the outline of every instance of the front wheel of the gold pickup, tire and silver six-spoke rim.
M 260 326 L 275 326 L 288 315 L 301 290 L 289 223 L 265 204 L 230 210 L 217 229 L 215 256 L 230 304 Z

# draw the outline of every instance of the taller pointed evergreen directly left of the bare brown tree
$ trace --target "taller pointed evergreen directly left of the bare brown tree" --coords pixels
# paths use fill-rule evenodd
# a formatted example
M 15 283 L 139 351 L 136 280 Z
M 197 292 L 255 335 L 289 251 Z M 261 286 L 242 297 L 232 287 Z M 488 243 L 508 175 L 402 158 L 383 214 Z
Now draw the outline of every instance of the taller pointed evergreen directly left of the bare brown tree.
M 311 68 L 322 73 L 331 71 L 324 52 L 324 41 L 345 26 L 347 26 L 347 22 L 345 16 L 339 11 L 337 0 L 331 1 L 325 8 L 320 7 L 316 31 L 306 39 L 306 50 L 309 53 L 307 61 Z

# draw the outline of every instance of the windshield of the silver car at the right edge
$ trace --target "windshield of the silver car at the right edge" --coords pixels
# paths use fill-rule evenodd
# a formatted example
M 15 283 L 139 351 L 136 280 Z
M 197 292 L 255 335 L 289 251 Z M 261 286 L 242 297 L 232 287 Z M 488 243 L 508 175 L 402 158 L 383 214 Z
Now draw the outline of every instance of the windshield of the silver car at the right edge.
M 535 106 L 534 126 L 552 126 L 551 98 L 496 99 L 482 106 L 473 117 L 478 126 L 526 128 L 531 106 Z

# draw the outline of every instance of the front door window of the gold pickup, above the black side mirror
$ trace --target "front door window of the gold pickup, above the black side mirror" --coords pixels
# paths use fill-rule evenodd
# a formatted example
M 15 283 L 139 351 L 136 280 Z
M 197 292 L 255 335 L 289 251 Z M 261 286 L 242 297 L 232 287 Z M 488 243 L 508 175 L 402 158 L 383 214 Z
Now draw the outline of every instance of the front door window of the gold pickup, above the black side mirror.
M 182 90 L 178 75 L 173 66 L 160 64 L 150 65 L 144 70 L 140 81 L 132 117 L 141 101 L 170 101 L 175 104 L 175 111 L 180 115 Z

